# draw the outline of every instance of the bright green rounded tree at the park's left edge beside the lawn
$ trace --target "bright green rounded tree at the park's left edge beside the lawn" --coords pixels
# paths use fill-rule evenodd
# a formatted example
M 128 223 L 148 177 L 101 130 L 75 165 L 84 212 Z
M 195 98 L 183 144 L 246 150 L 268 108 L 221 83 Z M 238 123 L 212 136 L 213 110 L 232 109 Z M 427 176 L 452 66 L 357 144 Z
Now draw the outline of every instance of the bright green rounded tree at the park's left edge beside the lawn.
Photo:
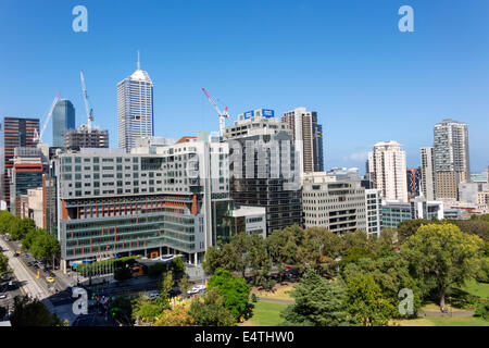
M 224 297 L 224 304 L 235 319 L 246 311 L 250 286 L 243 278 L 233 275 L 227 270 L 217 269 L 208 283 L 208 289 L 213 288 L 217 288 L 218 294 Z

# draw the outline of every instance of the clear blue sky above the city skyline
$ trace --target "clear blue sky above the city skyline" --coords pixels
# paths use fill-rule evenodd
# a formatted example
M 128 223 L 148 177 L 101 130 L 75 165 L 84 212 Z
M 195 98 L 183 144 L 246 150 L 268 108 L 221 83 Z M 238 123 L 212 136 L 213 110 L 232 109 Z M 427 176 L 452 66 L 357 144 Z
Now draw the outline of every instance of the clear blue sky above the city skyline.
M 72 9 L 88 9 L 88 33 Z M 414 33 L 398 10 L 414 9 Z M 0 3 L 0 117 L 43 119 L 61 89 L 116 146 L 116 84 L 141 67 L 154 83 L 158 136 L 218 130 L 201 91 L 233 115 L 297 107 L 318 112 L 325 166 L 360 166 L 397 140 L 408 166 L 444 117 L 468 124 L 473 172 L 489 164 L 489 1 L 161 0 Z M 45 140 L 51 141 L 51 124 Z

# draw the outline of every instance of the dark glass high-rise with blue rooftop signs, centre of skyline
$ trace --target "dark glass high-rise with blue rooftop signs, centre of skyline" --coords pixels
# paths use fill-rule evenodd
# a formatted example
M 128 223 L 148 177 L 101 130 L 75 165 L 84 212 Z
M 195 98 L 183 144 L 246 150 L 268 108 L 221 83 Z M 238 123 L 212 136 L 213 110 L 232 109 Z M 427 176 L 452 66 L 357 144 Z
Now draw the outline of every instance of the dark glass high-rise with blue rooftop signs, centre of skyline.
M 247 116 L 247 114 L 249 116 Z M 266 234 L 302 222 L 299 153 L 287 125 L 266 110 L 226 128 L 230 195 L 237 206 L 266 208 Z

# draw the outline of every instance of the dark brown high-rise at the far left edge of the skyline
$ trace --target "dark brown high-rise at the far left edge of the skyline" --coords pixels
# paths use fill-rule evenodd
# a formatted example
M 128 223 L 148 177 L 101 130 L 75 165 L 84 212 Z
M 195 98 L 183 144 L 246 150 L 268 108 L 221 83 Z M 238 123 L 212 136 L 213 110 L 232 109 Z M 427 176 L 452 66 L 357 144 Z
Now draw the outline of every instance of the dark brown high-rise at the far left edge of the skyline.
M 0 171 L 1 195 L 10 208 L 9 172 L 13 167 L 14 150 L 17 147 L 35 147 L 35 132 L 39 133 L 39 119 L 4 117 L 0 125 Z

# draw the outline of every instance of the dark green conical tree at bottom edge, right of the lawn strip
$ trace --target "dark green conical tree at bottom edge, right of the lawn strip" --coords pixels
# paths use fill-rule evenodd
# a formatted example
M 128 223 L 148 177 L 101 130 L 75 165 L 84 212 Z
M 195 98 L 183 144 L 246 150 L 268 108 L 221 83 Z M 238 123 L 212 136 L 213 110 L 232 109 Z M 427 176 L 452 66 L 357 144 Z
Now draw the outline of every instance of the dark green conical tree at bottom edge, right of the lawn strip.
M 338 281 L 327 281 L 308 269 L 300 282 L 290 291 L 296 300 L 281 313 L 283 325 L 343 326 L 353 322 L 343 304 L 344 287 Z

